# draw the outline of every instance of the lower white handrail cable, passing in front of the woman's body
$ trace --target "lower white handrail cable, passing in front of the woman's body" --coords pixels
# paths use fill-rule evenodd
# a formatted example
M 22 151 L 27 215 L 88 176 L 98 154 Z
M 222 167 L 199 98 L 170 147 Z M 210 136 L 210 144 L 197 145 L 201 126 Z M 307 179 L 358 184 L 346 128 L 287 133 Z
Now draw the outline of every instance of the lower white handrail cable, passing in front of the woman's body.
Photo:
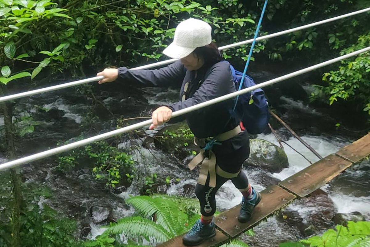
M 358 55 L 360 53 L 363 53 L 363 52 L 366 52 L 366 51 L 370 51 L 370 46 L 366 47 L 364 49 L 354 51 L 354 52 L 351 52 L 349 54 L 331 59 L 331 60 L 327 60 L 325 62 L 316 64 L 316 65 L 307 67 L 305 69 L 298 70 L 298 71 L 286 74 L 284 76 L 277 77 L 277 78 L 269 80 L 269 81 L 265 81 L 265 82 L 260 83 L 258 85 L 248 87 L 246 89 L 242 89 L 242 90 L 236 91 L 234 93 L 226 94 L 224 96 L 221 96 L 221 97 L 218 97 L 218 98 L 215 98 L 215 99 L 212 99 L 212 100 L 200 103 L 200 104 L 196 104 L 194 106 L 190 106 L 190 107 L 187 107 L 187 108 L 179 110 L 179 111 L 175 111 L 175 112 L 172 113 L 172 117 L 178 117 L 178 116 L 184 115 L 186 113 L 190 113 L 191 111 L 199 110 L 201 108 L 210 106 L 212 104 L 216 104 L 216 103 L 219 103 L 221 101 L 232 99 L 232 98 L 234 98 L 238 95 L 248 93 L 248 92 L 256 90 L 258 88 L 266 87 L 266 86 L 275 84 L 279 81 L 287 80 L 287 79 L 295 77 L 295 76 L 299 76 L 300 74 L 304 74 L 304 73 L 307 73 L 309 71 L 319 69 L 319 68 L 324 67 L 326 65 L 336 63 L 340 60 L 356 56 L 356 55 Z M 50 149 L 50 150 L 47 150 L 47 151 L 43 151 L 41 153 L 37 153 L 37 154 L 33 154 L 33 155 L 26 156 L 26 157 L 23 157 L 23 158 L 19 158 L 17 160 L 9 161 L 9 162 L 0 164 L 0 171 L 6 170 L 6 169 L 9 169 L 9 168 L 13 168 L 13 167 L 17 167 L 17 166 L 20 166 L 22 164 L 26 164 L 26 163 L 29 163 L 29 162 L 32 162 L 32 161 L 40 160 L 42 158 L 50 157 L 50 156 L 53 156 L 55 154 L 60 154 L 60 153 L 63 153 L 65 151 L 72 150 L 74 148 L 85 146 L 85 145 L 93 143 L 95 141 L 100 141 L 100 140 L 104 140 L 104 139 L 107 139 L 107 138 L 110 138 L 110 137 L 113 137 L 113 136 L 118 136 L 120 134 L 127 133 L 128 131 L 136 130 L 138 128 L 142 128 L 142 127 L 148 126 L 150 124 L 152 124 L 151 119 L 147 120 L 147 121 L 137 123 L 137 124 L 132 124 L 130 126 L 120 128 L 118 130 L 113 130 L 113 131 L 110 131 L 110 132 L 107 132 L 107 133 L 104 133 L 104 134 L 100 134 L 98 136 L 93 136 L 93 137 L 90 137 L 90 138 L 87 138 L 87 139 L 84 139 L 84 140 L 81 140 L 81 141 L 76 141 L 74 143 L 70 143 L 70 144 L 67 144 L 67 145 L 64 145 L 64 146 L 61 146 L 61 147 L 57 147 L 57 148 L 53 148 L 53 149 Z

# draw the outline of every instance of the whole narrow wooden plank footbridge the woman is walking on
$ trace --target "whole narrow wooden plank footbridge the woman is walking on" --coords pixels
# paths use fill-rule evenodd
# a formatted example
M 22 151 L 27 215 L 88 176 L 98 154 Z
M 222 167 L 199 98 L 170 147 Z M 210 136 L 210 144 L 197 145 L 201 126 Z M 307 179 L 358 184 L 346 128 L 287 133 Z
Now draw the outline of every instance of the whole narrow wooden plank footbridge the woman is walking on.
M 341 148 L 322 160 L 306 167 L 298 173 L 270 186 L 261 192 L 262 200 L 253 211 L 247 223 L 239 223 L 240 204 L 215 217 L 216 236 L 203 242 L 200 247 L 216 247 L 228 243 L 233 238 L 256 226 L 275 211 L 287 206 L 296 198 L 309 196 L 313 191 L 338 176 L 346 168 L 370 155 L 370 133 Z M 183 247 L 182 236 L 159 244 L 158 247 Z

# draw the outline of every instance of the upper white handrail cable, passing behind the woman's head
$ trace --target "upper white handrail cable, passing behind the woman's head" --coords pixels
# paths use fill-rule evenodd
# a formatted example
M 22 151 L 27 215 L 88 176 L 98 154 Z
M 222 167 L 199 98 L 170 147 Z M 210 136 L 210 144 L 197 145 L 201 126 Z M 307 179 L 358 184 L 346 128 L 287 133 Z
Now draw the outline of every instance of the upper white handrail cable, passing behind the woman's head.
M 364 12 L 367 12 L 367 11 L 370 11 L 370 7 L 366 8 L 366 9 L 362 9 L 362 10 L 357 10 L 357 11 L 354 11 L 354 12 L 351 12 L 351 13 L 348 13 L 348 14 L 343 14 L 341 16 L 336 16 L 336 17 L 332 17 L 332 18 L 329 18 L 329 19 L 326 19 L 326 20 L 310 23 L 310 24 L 307 24 L 307 25 L 304 25 L 304 26 L 295 27 L 295 28 L 287 29 L 287 30 L 280 31 L 280 32 L 277 32 L 277 33 L 272 33 L 272 34 L 268 34 L 268 35 L 265 35 L 265 36 L 261 36 L 261 37 L 258 37 L 256 39 L 256 41 L 270 39 L 270 38 L 273 38 L 273 37 L 277 37 L 277 36 L 292 33 L 292 32 L 295 32 L 295 31 L 299 31 L 299 30 L 310 28 L 310 27 L 314 27 L 314 26 L 317 26 L 317 25 L 320 25 L 320 24 L 324 24 L 324 23 L 328 23 L 328 22 L 331 22 L 331 21 L 343 19 L 343 18 L 346 18 L 346 17 L 349 17 L 349 16 L 354 16 L 356 14 L 361 14 L 361 13 L 364 13 Z M 252 42 L 253 42 L 253 39 L 249 39 L 249 40 L 241 41 L 241 42 L 238 42 L 238 43 L 230 44 L 230 45 L 227 45 L 227 46 L 221 46 L 218 49 L 219 50 L 226 50 L 226 49 L 229 49 L 229 48 L 232 48 L 232 47 L 241 46 L 243 44 L 249 44 L 249 43 L 252 43 Z M 159 67 L 159 66 L 162 66 L 162 65 L 170 64 L 170 63 L 173 63 L 175 61 L 177 61 L 177 59 L 168 59 L 168 60 L 160 61 L 160 62 L 157 62 L 157 63 L 152 63 L 152 64 L 147 64 L 147 65 L 144 65 L 144 66 L 135 67 L 135 68 L 132 68 L 131 70 L 151 69 L 151 68 L 154 68 L 154 67 Z M 51 87 L 45 87 L 45 88 L 41 88 L 41 89 L 26 91 L 26 92 L 23 92 L 23 93 L 11 94 L 11 95 L 8 95 L 8 96 L 0 97 L 0 103 L 4 102 L 4 101 L 15 100 L 15 99 L 35 95 L 35 94 L 46 93 L 46 92 L 49 92 L 49 91 L 64 89 L 64 88 L 67 88 L 67 87 L 73 87 L 73 86 L 89 83 L 89 82 L 92 82 L 92 81 L 98 81 L 98 80 L 101 80 L 103 78 L 104 77 L 102 77 L 102 76 L 96 76 L 96 77 L 92 77 L 92 78 L 88 78 L 88 79 L 72 81 L 72 82 L 69 82 L 69 83 L 59 84 L 59 85 L 55 85 L 55 86 L 51 86 Z

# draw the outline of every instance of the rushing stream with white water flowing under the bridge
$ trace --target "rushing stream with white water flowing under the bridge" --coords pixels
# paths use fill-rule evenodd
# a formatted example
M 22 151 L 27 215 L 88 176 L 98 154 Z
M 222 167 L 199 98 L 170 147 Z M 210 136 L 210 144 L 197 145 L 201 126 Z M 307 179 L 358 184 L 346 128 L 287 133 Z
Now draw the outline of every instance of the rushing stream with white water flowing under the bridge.
M 34 120 L 41 121 L 43 124 L 35 127 L 35 132 L 17 140 L 17 147 L 22 155 L 35 153 L 54 147 L 57 141 L 65 141 L 78 137 L 81 133 L 84 136 L 92 136 L 103 133 L 115 128 L 115 118 L 134 117 L 142 113 L 147 116 L 149 110 L 156 105 L 165 104 L 170 100 L 176 99 L 178 93 L 174 90 L 146 88 L 142 92 L 148 95 L 128 96 L 129 93 L 118 93 L 117 90 L 98 91 L 97 97 L 109 109 L 112 115 L 107 116 L 104 109 L 94 106 L 92 109 L 99 115 L 99 120 L 90 124 L 90 128 L 81 127 L 81 123 L 87 121 L 87 113 L 91 111 L 90 97 L 81 95 L 71 95 L 71 89 L 46 93 L 41 96 L 33 96 L 30 100 L 22 99 L 17 105 L 15 115 L 21 116 L 26 112 L 33 116 Z M 142 93 L 141 92 L 141 93 Z M 147 100 L 145 100 L 145 98 Z M 78 104 L 76 104 L 78 102 Z M 313 119 L 322 123 L 335 124 L 327 116 L 316 111 L 299 100 L 293 100 L 289 96 L 281 96 L 280 105 L 277 107 L 284 113 L 283 119 L 287 119 L 290 124 L 300 119 L 299 123 L 292 124 L 292 128 L 298 129 L 301 135 L 310 146 L 312 146 L 321 156 L 325 157 L 335 153 L 339 148 L 354 141 L 353 138 L 341 136 L 340 134 L 320 134 L 311 123 Z M 35 106 L 37 105 L 37 106 Z M 43 108 L 44 110 L 40 110 Z M 45 111 L 47 109 L 47 111 Z M 305 121 L 310 119 L 309 123 Z M 94 120 L 95 121 L 95 120 Z M 3 118 L 0 117 L 0 127 L 4 125 Z M 304 126 L 304 127 L 302 127 Z M 296 127 L 296 128 L 295 128 Z M 277 128 L 277 133 L 290 146 L 294 147 L 299 153 L 309 159 L 312 163 L 319 160 L 311 151 L 303 146 L 289 132 L 283 128 Z M 147 134 L 153 134 L 147 131 Z M 338 132 L 339 133 L 339 132 Z M 1 133 L 3 135 L 3 133 Z M 1 136 L 3 138 L 3 136 Z M 260 134 L 258 138 L 270 141 L 279 145 L 272 134 Z M 73 139 L 72 139 L 73 140 Z M 148 176 L 157 173 L 159 177 L 170 176 L 180 178 L 179 183 L 172 183 L 169 188 L 166 186 L 158 187 L 157 190 L 170 195 L 182 195 L 195 197 L 194 186 L 196 184 L 195 172 L 190 172 L 184 164 L 180 164 L 170 154 L 158 149 L 148 149 L 142 146 L 140 138 L 131 138 L 118 145 L 119 148 L 128 150 L 129 147 L 137 146 L 131 150 L 131 155 L 137 161 L 139 176 Z M 261 191 L 269 185 L 276 184 L 297 171 L 310 165 L 310 163 L 300 154 L 283 144 L 289 160 L 289 167 L 284 168 L 279 173 L 266 173 L 258 167 L 244 167 L 250 183 L 253 187 Z M 0 163 L 5 161 L 0 154 Z M 126 205 L 125 198 L 130 195 L 140 193 L 142 183 L 135 181 L 128 188 L 121 188 L 121 191 L 112 193 L 105 188 L 105 184 L 96 181 L 91 176 L 88 166 L 83 166 L 73 173 L 60 175 L 54 170 L 55 161 L 53 158 L 37 161 L 23 167 L 23 181 L 36 183 L 51 188 L 53 196 L 42 198 L 42 202 L 47 202 L 51 207 L 56 208 L 62 216 L 73 217 L 79 223 L 81 237 L 94 238 L 102 233 L 100 226 L 104 226 L 107 220 L 117 220 L 118 218 L 129 216 L 133 209 Z M 267 221 L 260 223 L 253 228 L 255 236 L 242 235 L 241 238 L 253 246 L 277 246 L 285 240 L 298 240 L 312 234 L 320 234 L 327 227 L 334 225 L 332 218 L 336 213 L 360 212 L 366 219 L 370 219 L 370 175 L 369 161 L 347 169 L 340 176 L 334 178 L 322 188 L 319 194 L 315 194 L 302 200 L 296 200 L 287 206 L 282 213 L 278 213 L 268 218 Z M 219 211 L 227 210 L 240 203 L 240 192 L 229 181 L 216 195 Z M 41 205 L 41 204 L 40 204 Z

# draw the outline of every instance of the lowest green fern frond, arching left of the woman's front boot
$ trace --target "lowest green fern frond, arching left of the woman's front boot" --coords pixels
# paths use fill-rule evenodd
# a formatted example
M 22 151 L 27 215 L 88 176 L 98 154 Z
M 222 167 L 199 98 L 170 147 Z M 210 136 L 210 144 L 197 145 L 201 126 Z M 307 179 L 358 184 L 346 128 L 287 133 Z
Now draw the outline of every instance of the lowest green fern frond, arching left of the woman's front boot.
M 142 217 L 126 217 L 118 220 L 117 223 L 111 224 L 104 233 L 110 234 L 127 234 L 129 236 L 143 236 L 146 238 L 153 237 L 158 241 L 167 241 L 174 234 L 169 233 L 164 227 L 155 222 Z

